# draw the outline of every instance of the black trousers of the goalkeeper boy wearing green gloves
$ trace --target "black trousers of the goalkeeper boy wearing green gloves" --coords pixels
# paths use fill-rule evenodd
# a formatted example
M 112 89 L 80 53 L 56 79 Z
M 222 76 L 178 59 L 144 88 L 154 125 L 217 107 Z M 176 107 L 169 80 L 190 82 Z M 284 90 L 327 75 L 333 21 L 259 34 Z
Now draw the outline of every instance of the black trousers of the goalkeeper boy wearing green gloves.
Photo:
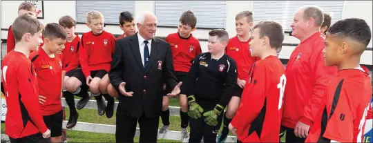
M 203 105 L 200 104 L 200 106 L 203 108 L 202 117 L 198 119 L 193 119 L 189 117 L 189 126 L 191 128 L 189 142 L 201 142 L 202 137 L 204 142 L 216 142 L 216 135 L 220 129 L 220 126 L 222 124 L 222 117 L 223 112 L 220 113 L 218 116 L 218 125 L 216 126 L 209 126 L 206 122 L 204 122 L 204 116 L 203 114 L 207 111 L 213 110 L 215 108 L 216 104 L 207 104 Z

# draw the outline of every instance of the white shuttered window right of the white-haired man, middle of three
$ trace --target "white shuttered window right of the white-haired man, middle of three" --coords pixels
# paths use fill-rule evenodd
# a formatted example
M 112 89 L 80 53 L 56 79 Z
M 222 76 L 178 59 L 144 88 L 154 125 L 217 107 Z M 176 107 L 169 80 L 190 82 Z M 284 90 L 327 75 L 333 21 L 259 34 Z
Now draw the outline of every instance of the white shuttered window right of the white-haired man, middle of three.
M 155 1 L 158 26 L 178 26 L 182 12 L 191 10 L 197 28 L 224 28 L 227 1 Z

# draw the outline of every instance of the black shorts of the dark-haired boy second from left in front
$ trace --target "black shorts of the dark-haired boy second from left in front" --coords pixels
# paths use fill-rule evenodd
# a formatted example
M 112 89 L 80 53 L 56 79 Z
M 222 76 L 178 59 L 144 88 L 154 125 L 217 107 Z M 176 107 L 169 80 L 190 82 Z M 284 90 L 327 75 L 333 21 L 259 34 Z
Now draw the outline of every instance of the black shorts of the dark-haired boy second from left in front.
M 47 128 L 50 129 L 50 137 L 58 137 L 62 135 L 62 110 L 52 115 L 43 116 Z

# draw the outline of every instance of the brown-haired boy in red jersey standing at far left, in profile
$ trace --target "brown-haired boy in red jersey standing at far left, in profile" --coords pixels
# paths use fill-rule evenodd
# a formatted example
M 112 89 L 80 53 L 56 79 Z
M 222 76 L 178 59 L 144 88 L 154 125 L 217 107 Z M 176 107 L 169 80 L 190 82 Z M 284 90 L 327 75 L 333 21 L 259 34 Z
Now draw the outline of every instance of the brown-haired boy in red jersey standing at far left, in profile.
M 41 136 L 50 137 L 50 130 L 40 112 L 37 75 L 28 55 L 42 42 L 43 26 L 35 17 L 23 14 L 12 27 L 15 49 L 5 55 L 1 65 L 8 105 L 6 134 L 10 142 L 39 142 Z

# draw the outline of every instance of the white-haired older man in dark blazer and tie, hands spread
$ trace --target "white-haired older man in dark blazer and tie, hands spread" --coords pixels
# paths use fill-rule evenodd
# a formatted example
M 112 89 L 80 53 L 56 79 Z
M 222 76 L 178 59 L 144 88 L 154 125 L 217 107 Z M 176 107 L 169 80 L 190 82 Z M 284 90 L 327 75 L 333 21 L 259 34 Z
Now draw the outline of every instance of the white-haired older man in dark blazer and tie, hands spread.
M 166 82 L 180 93 L 181 82 L 174 75 L 170 45 L 155 36 L 157 18 L 152 12 L 137 17 L 139 32 L 117 41 L 111 71 L 111 84 L 119 95 L 116 142 L 133 142 L 137 122 L 140 142 L 157 142 L 162 110 L 162 89 Z

